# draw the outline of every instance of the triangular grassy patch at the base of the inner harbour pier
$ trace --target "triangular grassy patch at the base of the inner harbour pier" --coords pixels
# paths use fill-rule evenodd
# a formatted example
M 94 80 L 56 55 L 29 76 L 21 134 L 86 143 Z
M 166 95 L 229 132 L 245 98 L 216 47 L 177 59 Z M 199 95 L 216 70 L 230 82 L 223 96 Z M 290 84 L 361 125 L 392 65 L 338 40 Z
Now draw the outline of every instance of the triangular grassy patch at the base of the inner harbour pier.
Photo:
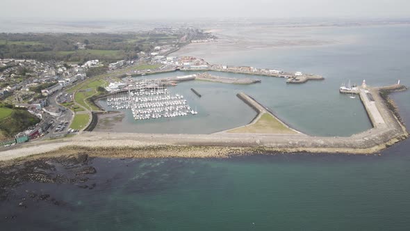
M 296 132 L 283 125 L 269 113 L 263 113 L 261 118 L 253 125 L 238 127 L 237 129 L 230 130 L 229 133 L 295 134 Z

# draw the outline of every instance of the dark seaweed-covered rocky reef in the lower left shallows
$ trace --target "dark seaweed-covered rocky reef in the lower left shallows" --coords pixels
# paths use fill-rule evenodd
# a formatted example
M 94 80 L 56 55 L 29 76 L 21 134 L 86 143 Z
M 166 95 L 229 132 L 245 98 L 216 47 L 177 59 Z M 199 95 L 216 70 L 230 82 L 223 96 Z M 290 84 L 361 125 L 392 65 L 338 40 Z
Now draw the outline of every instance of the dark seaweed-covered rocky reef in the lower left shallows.
M 12 214 L 0 218 L 14 220 L 39 203 L 66 206 L 52 191 L 33 189 L 30 184 L 71 184 L 80 189 L 94 189 L 95 183 L 89 182 L 90 175 L 97 173 L 92 166 L 92 158 L 85 153 L 66 154 L 54 157 L 28 157 L 0 164 L 0 203 L 10 204 L 21 209 L 12 209 Z M 72 152 L 71 152 L 72 153 Z

